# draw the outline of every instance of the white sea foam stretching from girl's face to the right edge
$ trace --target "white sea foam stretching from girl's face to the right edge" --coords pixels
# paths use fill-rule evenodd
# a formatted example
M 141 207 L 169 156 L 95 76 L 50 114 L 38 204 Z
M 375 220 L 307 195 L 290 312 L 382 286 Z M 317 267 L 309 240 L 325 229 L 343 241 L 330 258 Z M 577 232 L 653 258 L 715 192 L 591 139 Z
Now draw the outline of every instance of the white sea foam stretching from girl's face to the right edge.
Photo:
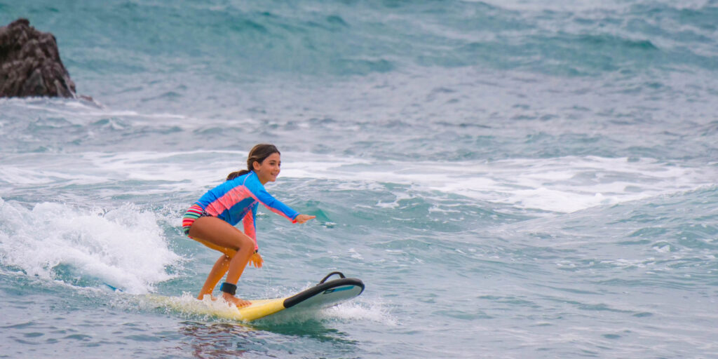
M 518 208 L 569 213 L 712 185 L 714 166 L 681 167 L 653 159 L 558 157 L 495 162 L 377 164 L 288 161 L 287 177 L 376 181 L 457 193 Z

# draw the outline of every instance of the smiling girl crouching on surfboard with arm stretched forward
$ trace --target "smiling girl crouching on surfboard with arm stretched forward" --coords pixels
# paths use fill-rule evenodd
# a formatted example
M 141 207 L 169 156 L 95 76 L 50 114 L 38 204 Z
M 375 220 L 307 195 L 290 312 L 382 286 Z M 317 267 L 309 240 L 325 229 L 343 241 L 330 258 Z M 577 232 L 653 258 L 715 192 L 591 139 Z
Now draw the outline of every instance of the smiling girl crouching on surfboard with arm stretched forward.
M 266 182 L 276 181 L 280 165 L 279 150 L 274 145 L 254 146 L 249 151 L 247 169 L 230 173 L 226 182 L 202 195 L 185 213 L 182 218 L 185 235 L 223 253 L 212 267 L 197 299 L 211 295 L 228 272 L 227 281 L 220 287 L 223 299 L 237 307 L 251 304 L 234 294 L 247 263 L 251 261 L 256 268 L 261 268 L 264 263 L 258 253 L 254 224 L 259 203 L 292 223 L 315 218 L 297 213 L 264 189 Z M 244 233 L 234 227 L 240 220 L 244 223 Z

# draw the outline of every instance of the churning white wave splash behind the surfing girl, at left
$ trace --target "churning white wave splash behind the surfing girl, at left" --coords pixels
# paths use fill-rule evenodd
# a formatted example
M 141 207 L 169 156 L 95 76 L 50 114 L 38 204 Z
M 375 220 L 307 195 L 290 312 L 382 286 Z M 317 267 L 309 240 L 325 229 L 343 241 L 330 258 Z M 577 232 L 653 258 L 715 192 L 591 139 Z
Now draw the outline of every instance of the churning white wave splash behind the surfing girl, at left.
M 93 212 L 45 202 L 27 209 L 0 199 L 0 217 L 2 264 L 45 279 L 62 280 L 55 269 L 67 265 L 80 276 L 146 293 L 172 278 L 167 266 L 182 261 L 154 213 L 130 205 Z

